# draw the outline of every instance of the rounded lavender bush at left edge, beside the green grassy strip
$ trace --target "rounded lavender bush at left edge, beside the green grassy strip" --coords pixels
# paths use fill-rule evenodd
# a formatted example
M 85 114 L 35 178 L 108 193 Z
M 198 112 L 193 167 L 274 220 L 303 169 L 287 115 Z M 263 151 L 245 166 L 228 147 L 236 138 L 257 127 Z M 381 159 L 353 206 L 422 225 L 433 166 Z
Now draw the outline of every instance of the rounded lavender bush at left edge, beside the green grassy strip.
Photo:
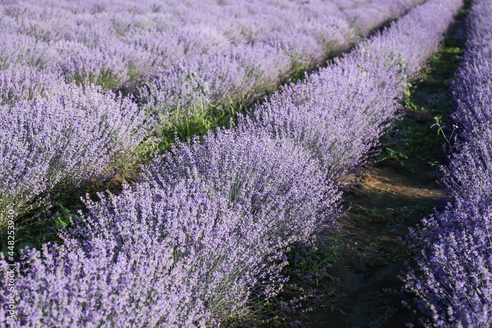
M 145 134 L 143 111 L 129 98 L 100 91 L 64 87 L 0 107 L 1 209 L 13 203 L 22 214 L 39 195 L 128 163 Z

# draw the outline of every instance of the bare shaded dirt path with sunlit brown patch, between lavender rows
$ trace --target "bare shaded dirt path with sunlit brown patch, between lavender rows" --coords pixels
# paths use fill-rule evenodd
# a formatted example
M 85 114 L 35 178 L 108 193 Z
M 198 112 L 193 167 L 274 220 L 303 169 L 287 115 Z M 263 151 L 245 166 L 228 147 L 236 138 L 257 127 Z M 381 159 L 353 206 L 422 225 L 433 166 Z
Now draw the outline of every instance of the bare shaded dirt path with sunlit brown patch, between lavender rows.
M 345 230 L 341 239 L 357 242 L 357 249 L 344 252 L 335 274 L 337 291 L 327 300 L 345 314 L 319 308 L 303 327 L 417 324 L 418 316 L 402 306 L 398 293 L 402 287 L 398 276 L 406 271 L 404 260 L 411 258 L 398 236 L 405 236 L 434 207 L 441 209 L 452 193 L 436 183 L 434 167 L 413 164 L 421 169 L 412 175 L 402 174 L 400 164 L 376 164 L 346 186 L 344 200 L 352 209 L 345 209 L 338 223 Z

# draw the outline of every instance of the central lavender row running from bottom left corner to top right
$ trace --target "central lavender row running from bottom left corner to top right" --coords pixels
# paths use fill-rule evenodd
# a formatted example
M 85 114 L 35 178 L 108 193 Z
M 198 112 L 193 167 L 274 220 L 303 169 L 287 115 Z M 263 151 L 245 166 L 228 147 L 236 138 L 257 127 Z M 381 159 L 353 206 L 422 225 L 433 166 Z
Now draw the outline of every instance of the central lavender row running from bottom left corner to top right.
M 346 77 L 342 77 L 347 82 L 337 85 L 343 80 L 334 76 L 335 89 L 330 91 L 333 117 L 360 115 L 343 108 L 348 103 L 336 101 L 345 101 L 335 96 L 341 91 L 336 88 L 353 90 L 357 97 L 352 101 L 360 101 L 365 86 L 370 86 L 374 93 L 369 103 L 381 104 L 376 100 L 375 91 L 379 90 L 380 96 L 388 94 L 385 101 L 390 109 L 368 105 L 360 111 L 364 113 L 366 107 L 368 116 L 374 117 L 388 111 L 389 122 L 396 106 L 394 98 L 403 89 L 399 84 L 407 79 L 403 69 L 395 68 L 401 68 L 402 60 L 377 65 L 375 61 L 382 58 L 376 56 L 391 54 L 391 49 L 369 54 L 361 49 L 368 45 L 375 50 L 383 45 L 399 47 L 397 34 L 392 32 L 395 28 L 402 31 L 402 42 L 410 42 L 407 52 L 417 45 L 422 45 L 423 52 L 430 51 L 460 4 L 430 0 L 354 54 L 310 77 L 307 89 L 302 85 L 287 89 L 314 89 L 312 81 L 318 78 L 320 89 L 307 94 L 308 113 L 315 104 L 309 99 L 328 88 L 323 72 L 338 69 L 335 72 L 345 73 L 346 64 Z M 407 37 L 408 31 L 416 37 Z M 406 74 L 412 74 L 412 67 L 417 69 L 424 56 L 410 57 L 415 59 L 405 67 Z M 326 81 L 331 81 L 329 76 Z M 393 81 L 395 86 L 389 86 Z M 292 98 L 301 108 L 302 93 L 288 95 L 284 91 L 275 97 Z M 315 99 L 322 108 L 321 98 Z M 285 281 L 281 268 L 289 245 L 309 240 L 323 219 L 334 223 L 339 193 L 337 184 L 326 179 L 329 165 L 313 156 L 306 143 L 272 133 L 261 124 L 248 124 L 246 120 L 253 121 L 252 117 L 235 129 L 210 132 L 203 144 L 197 138 L 177 141 L 164 158 L 155 159 L 153 166 L 144 170 L 140 183 L 125 186 L 119 196 L 101 195 L 97 203 L 86 200 L 89 212 L 82 215 L 84 222 L 78 222 L 79 228 L 64 234 L 63 246 L 32 250 L 23 259 L 31 267 L 22 274 L 17 271 L 20 315 L 11 326 L 205 327 L 246 317 L 248 300 L 253 297 L 275 296 Z M 360 129 L 369 134 L 366 122 L 361 120 L 361 124 Z M 353 138 L 354 130 L 332 132 L 342 142 Z M 340 152 L 337 161 L 355 162 L 344 156 L 351 154 Z M 5 260 L 0 265 L 5 272 Z M 8 281 L 3 283 L 5 291 Z M 8 300 L 5 293 L 0 311 Z M 5 314 L 0 313 L 2 320 Z

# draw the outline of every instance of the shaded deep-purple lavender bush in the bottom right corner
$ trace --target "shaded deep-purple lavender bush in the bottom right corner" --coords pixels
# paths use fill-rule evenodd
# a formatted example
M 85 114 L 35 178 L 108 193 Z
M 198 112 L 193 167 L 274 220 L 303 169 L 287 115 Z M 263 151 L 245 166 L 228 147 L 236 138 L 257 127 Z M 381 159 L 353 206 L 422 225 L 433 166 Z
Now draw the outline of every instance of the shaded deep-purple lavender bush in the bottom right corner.
M 490 327 L 492 322 L 491 207 L 462 198 L 412 232 L 419 270 L 407 274 L 428 315 L 426 327 Z

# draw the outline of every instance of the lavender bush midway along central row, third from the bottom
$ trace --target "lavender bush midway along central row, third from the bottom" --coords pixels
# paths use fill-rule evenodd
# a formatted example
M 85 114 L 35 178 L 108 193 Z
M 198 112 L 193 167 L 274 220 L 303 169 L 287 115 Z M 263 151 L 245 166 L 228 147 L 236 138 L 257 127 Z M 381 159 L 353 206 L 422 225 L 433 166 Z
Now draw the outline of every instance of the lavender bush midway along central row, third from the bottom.
M 393 120 L 392 98 L 357 65 L 340 60 L 305 83 L 287 86 L 240 124 L 292 138 L 309 149 L 331 178 L 361 162 Z

